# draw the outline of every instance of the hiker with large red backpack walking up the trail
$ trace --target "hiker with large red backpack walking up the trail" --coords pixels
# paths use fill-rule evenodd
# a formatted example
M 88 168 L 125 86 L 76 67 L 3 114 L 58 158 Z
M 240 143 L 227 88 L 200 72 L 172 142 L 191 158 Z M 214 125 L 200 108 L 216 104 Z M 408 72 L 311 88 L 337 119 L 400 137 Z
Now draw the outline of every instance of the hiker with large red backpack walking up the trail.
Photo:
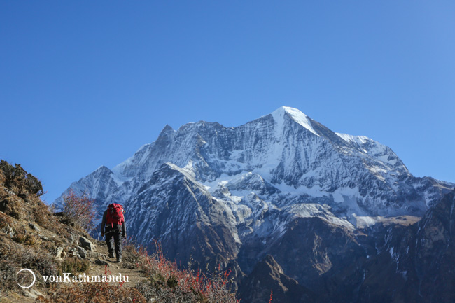
M 101 223 L 101 237 L 104 237 L 106 234 L 109 258 L 114 258 L 113 251 L 115 242 L 117 262 L 122 262 L 122 242 L 127 235 L 125 216 L 123 216 L 124 212 L 121 204 L 109 204 L 106 211 L 103 213 L 103 220 Z

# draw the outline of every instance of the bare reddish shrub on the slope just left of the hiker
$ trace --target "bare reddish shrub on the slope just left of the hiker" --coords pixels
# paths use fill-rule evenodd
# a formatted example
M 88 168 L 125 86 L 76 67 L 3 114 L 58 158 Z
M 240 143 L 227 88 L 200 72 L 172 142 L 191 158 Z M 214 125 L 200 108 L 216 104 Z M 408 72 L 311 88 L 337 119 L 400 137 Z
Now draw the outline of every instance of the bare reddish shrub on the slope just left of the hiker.
M 63 196 L 62 212 L 71 223 L 90 231 L 95 214 L 93 204 L 94 200 L 90 199 L 86 192 L 76 195 L 76 192 L 70 189 L 68 195 Z

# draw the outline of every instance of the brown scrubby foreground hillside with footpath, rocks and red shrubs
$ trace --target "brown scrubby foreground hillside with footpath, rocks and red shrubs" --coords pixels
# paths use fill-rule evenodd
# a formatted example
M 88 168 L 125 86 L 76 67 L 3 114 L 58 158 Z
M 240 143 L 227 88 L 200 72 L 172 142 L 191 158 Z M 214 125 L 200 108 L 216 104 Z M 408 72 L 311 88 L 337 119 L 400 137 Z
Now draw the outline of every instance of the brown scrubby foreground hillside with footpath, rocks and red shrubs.
M 147 255 L 124 244 L 123 262 L 107 257 L 104 241 L 60 213 L 52 213 L 39 196 L 40 181 L 19 164 L 0 162 L 0 302 L 235 302 L 227 277 L 202 279 L 182 271 L 164 255 Z M 19 273 L 21 269 L 30 272 Z M 65 283 L 65 274 L 71 280 Z M 80 283 L 120 275 L 123 281 Z M 51 281 L 61 276 L 62 283 Z M 78 278 L 79 277 L 79 278 Z M 125 281 L 127 277 L 127 281 Z M 96 279 L 95 279 L 96 281 Z M 34 283 L 33 283 L 34 282 Z M 54 283 L 55 282 L 55 283 Z M 209 283 L 210 282 L 210 283 Z M 191 283 L 191 287 L 188 287 Z M 22 288 L 21 286 L 29 286 Z M 90 301 L 92 302 L 92 301 Z

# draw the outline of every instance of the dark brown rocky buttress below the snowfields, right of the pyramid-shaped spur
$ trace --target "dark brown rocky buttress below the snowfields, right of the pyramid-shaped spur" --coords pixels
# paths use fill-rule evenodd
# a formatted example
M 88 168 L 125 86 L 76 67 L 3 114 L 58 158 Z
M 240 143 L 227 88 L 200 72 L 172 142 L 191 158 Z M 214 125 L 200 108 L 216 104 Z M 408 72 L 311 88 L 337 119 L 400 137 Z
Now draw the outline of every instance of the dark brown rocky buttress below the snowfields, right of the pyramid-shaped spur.
M 288 276 L 312 289 L 321 288 L 324 274 L 365 259 L 352 230 L 318 217 L 294 220 L 267 253 L 274 255 Z

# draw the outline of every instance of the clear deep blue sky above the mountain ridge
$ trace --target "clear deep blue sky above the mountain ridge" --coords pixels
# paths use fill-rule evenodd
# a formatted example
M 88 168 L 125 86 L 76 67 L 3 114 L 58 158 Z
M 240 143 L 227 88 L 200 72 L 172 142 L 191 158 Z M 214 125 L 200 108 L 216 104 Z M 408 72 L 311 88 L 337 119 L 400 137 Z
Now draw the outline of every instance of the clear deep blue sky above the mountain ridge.
M 166 124 L 279 106 L 455 182 L 455 1 L 0 1 L 0 102 L 47 202 Z

